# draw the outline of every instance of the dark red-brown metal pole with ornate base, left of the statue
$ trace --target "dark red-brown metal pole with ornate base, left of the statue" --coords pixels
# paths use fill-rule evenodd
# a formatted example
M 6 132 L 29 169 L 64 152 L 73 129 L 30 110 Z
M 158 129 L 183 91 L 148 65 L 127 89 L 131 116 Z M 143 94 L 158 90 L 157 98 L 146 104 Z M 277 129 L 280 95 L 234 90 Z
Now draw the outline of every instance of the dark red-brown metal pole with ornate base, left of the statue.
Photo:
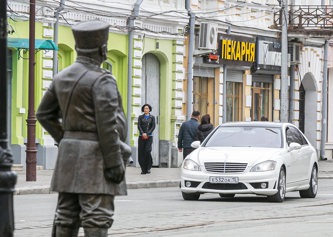
M 35 117 L 35 12 L 36 0 L 30 0 L 29 11 L 29 98 L 27 121 L 26 181 L 36 181 L 36 117 Z

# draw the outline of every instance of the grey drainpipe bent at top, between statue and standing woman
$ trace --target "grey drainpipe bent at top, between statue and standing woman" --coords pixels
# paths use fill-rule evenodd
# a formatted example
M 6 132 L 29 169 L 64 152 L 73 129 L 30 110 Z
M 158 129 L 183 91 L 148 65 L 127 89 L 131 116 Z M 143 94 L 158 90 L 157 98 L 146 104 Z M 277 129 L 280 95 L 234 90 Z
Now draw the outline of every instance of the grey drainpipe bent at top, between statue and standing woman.
M 134 4 L 132 16 L 129 17 L 128 26 L 134 27 L 134 19 L 139 16 L 139 7 L 143 0 Z M 133 59 L 133 31 L 128 32 L 128 67 L 127 67 L 127 136 L 126 143 L 131 146 L 131 121 L 132 121 L 132 59 Z

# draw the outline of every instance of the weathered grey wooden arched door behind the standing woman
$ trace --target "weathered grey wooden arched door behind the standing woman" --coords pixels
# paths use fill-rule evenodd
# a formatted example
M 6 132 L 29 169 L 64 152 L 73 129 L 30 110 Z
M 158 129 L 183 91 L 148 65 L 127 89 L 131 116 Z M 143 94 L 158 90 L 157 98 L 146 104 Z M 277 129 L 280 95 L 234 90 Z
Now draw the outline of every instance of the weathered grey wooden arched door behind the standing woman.
M 155 116 L 156 127 L 153 132 L 153 166 L 159 165 L 159 120 L 160 120 L 160 61 L 152 53 L 142 57 L 141 105 L 150 104 L 151 114 Z

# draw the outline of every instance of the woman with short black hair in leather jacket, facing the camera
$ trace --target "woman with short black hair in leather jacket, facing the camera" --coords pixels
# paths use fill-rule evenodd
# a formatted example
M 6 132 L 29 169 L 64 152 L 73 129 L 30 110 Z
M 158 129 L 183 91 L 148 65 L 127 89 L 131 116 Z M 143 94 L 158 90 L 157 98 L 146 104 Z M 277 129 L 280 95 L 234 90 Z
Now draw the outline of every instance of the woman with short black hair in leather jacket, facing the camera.
M 155 129 L 155 117 L 149 112 L 152 107 L 149 104 L 142 106 L 141 111 L 145 114 L 140 115 L 138 118 L 138 161 L 141 167 L 141 174 L 150 174 L 150 169 L 153 165 L 152 158 L 152 144 L 153 144 L 153 131 Z

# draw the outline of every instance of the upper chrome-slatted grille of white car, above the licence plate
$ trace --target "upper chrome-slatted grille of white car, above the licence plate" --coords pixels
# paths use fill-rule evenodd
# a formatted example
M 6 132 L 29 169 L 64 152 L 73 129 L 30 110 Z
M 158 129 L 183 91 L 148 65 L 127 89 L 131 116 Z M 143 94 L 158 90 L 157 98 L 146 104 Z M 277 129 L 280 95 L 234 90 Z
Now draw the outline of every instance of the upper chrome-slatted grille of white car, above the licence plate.
M 246 170 L 247 163 L 205 162 L 203 163 L 203 166 L 209 173 L 229 174 L 244 172 Z

